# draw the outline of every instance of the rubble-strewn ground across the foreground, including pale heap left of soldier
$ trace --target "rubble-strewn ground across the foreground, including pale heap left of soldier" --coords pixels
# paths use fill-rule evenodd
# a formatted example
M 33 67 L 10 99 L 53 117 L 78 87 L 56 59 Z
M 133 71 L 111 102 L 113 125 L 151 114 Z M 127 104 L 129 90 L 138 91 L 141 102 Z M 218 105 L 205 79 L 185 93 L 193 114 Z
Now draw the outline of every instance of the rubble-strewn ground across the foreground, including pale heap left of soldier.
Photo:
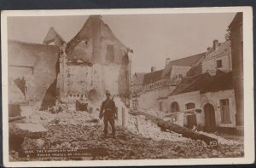
M 87 157 L 76 159 L 177 159 L 177 158 L 211 158 L 211 157 L 242 157 L 243 145 L 219 144 L 218 148 L 207 148 L 201 141 L 171 142 L 154 141 L 131 133 L 123 127 L 117 127 L 116 138 L 102 138 L 102 121 L 97 122 L 90 113 L 38 113 L 26 122 L 40 119 L 48 128 L 46 135 L 40 139 L 25 137 L 23 149 L 44 149 L 50 142 L 49 149 L 61 148 L 106 148 L 105 157 Z M 59 117 L 61 125 L 50 126 L 49 120 Z M 91 118 L 90 118 L 91 117 Z M 72 119 L 73 122 L 67 124 Z M 110 136 L 110 134 L 109 134 Z M 10 152 L 12 160 L 20 160 L 15 151 Z M 41 158 L 40 160 L 60 160 L 74 158 Z M 28 159 L 26 159 L 28 160 Z M 38 160 L 29 159 L 29 160 Z

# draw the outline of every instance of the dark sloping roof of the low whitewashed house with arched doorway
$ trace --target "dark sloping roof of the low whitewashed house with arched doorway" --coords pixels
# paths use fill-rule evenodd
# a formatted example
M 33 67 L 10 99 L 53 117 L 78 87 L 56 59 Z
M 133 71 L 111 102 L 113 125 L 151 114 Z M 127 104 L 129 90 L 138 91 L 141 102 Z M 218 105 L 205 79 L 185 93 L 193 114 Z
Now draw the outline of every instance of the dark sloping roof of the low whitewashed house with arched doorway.
M 214 76 L 206 72 L 191 78 L 183 78 L 181 84 L 172 91 L 171 96 L 197 90 L 206 93 L 231 89 L 233 89 L 232 72 L 225 73 L 217 70 Z

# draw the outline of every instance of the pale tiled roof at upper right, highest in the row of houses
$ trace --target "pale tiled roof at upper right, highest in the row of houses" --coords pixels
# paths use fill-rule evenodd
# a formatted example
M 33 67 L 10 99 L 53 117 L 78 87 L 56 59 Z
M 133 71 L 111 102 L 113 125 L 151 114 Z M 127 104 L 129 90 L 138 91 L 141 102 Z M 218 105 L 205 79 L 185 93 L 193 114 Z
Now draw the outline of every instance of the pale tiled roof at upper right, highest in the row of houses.
M 204 60 L 208 60 L 214 57 L 223 56 L 223 55 L 231 55 L 231 43 L 230 41 L 225 41 L 224 43 L 219 43 L 218 49 L 210 49 Z

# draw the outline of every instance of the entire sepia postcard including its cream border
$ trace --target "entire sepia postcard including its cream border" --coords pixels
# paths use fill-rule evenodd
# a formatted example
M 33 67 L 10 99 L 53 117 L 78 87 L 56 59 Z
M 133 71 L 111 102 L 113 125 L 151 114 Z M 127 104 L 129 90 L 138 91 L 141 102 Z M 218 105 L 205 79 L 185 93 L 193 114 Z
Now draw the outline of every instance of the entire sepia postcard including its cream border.
M 5 163 L 253 162 L 252 20 L 246 7 L 3 12 Z

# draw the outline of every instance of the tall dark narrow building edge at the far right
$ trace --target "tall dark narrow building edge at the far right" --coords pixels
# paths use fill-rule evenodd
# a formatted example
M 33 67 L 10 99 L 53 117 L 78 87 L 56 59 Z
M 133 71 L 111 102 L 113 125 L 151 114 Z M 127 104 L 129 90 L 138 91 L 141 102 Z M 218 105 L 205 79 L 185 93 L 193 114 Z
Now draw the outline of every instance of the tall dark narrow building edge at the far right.
M 243 131 L 243 37 L 242 13 L 237 13 L 229 26 L 231 38 L 231 53 L 233 67 L 233 81 L 236 96 L 236 129 Z

